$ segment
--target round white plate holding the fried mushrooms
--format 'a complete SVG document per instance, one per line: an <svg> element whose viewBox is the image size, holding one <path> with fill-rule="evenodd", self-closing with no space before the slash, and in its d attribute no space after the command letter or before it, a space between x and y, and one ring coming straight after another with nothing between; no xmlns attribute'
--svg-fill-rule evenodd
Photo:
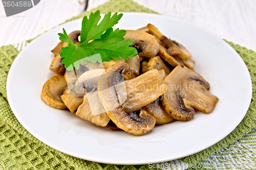
<svg viewBox="0 0 256 170"><path fill-rule="evenodd" d="M77 19L56 27L33 40L13 62L7 80L11 109L19 122L50 147L86 160L113 164L146 164L173 160L202 151L238 126L252 94L251 79L241 57L221 38L190 23L147 13L124 13L115 28L138 29L153 23L183 44L193 55L195 70L207 80L210 92L219 98L210 114L197 112L189 122L155 127L144 136L109 131L69 111L51 108L41 98L57 33L80 30ZM26 34L26 33L25 33Z"/></svg>

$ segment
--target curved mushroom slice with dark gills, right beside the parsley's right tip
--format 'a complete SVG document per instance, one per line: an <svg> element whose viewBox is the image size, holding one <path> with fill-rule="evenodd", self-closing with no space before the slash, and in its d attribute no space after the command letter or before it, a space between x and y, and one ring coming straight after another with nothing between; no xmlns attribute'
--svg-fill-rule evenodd
<svg viewBox="0 0 256 170"><path fill-rule="evenodd" d="M123 37L125 40L134 40L131 46L142 50L142 52L139 53L140 57L152 58L155 57L159 51L159 43L156 38L146 32L126 30L126 34Z"/></svg>

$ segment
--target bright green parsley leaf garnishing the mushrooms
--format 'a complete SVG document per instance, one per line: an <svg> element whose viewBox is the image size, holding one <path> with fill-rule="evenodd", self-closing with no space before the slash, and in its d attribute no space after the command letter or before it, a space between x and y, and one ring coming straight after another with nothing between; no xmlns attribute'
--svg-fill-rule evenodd
<svg viewBox="0 0 256 170"><path fill-rule="evenodd" d="M123 40L125 30L113 30L113 26L118 23L122 14L115 13L111 17L111 12L104 15L100 20L100 12L91 13L89 18L83 17L80 42L74 44L63 29L63 34L59 33L59 39L62 42L67 42L68 46L61 48L60 56L64 59L62 63L68 70L73 70L73 67L79 69L79 62L86 63L87 61L102 62L110 61L111 58L119 60L119 57L127 59L137 55L137 50L130 47L133 40ZM92 42L88 43L90 40Z"/></svg>

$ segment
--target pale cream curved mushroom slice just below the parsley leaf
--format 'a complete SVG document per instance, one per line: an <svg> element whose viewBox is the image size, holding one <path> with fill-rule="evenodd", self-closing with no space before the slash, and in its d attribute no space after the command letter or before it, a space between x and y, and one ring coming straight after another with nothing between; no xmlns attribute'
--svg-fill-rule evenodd
<svg viewBox="0 0 256 170"><path fill-rule="evenodd" d="M77 96L83 96L86 89L96 89L100 76L105 72L105 69L98 68L84 72L76 81L75 92Z"/></svg>

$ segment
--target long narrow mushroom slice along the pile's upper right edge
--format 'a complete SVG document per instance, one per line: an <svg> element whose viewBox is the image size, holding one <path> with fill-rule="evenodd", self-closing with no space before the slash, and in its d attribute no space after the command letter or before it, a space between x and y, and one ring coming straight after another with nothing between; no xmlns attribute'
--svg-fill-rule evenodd
<svg viewBox="0 0 256 170"><path fill-rule="evenodd" d="M164 36L154 25L148 23L147 28L157 37L159 40L168 48L167 53L170 56L177 56L181 60L189 60L192 56L186 50L186 48L181 45L175 44L172 40ZM184 52L184 53L183 53Z"/></svg>

